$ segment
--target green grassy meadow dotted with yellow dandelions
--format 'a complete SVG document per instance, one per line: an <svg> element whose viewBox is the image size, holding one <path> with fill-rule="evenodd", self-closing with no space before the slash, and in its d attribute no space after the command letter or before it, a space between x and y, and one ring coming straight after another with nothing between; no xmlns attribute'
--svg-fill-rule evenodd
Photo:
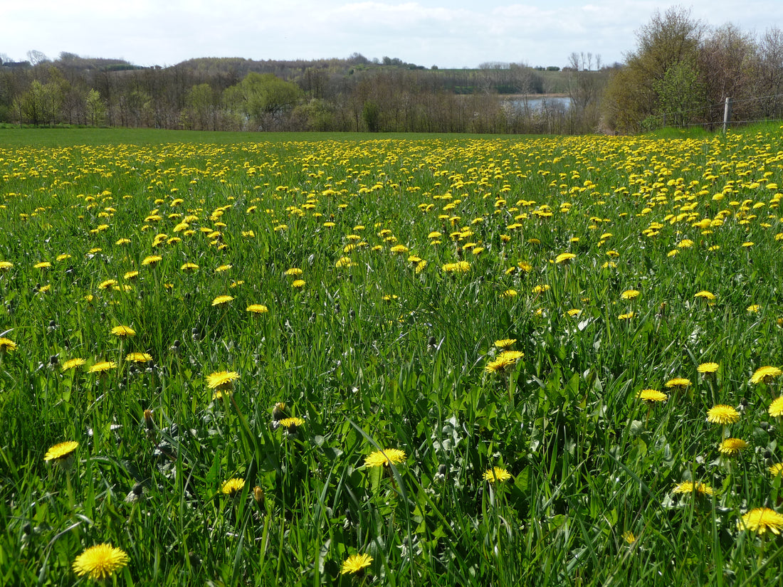
<svg viewBox="0 0 783 587"><path fill-rule="evenodd" d="M0 584L781 582L781 128L307 136L0 131Z"/></svg>

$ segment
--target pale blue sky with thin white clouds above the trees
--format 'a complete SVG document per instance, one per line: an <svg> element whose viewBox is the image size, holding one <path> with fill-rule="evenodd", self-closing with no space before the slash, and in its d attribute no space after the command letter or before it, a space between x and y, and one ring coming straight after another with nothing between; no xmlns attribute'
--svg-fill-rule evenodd
<svg viewBox="0 0 783 587"><path fill-rule="evenodd" d="M655 0L35 0L3 2L0 53L31 49L174 65L193 57L398 57L425 67L564 66L572 52L622 61ZM714 27L783 27L781 0L679 2Z"/></svg>

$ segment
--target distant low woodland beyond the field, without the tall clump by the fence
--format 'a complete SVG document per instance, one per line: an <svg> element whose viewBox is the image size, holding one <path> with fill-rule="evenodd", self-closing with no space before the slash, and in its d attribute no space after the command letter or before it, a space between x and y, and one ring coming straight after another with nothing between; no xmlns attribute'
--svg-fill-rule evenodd
<svg viewBox="0 0 783 587"><path fill-rule="evenodd" d="M531 108L525 99L568 92L572 73L559 67L425 69L358 53L348 59L202 58L135 67L119 59L61 53L51 60L31 53L32 59L18 63L0 55L0 122L216 131L581 130L575 111L561 103Z"/></svg>

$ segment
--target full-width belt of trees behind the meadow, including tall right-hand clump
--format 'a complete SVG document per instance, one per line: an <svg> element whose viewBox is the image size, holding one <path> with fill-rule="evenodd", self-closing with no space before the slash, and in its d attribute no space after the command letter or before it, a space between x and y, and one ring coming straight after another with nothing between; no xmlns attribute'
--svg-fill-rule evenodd
<svg viewBox="0 0 783 587"><path fill-rule="evenodd" d="M565 99L532 101L557 93ZM590 52L568 67L482 63L424 68L401 59L121 59L0 54L0 123L213 131L633 133L666 125L783 118L783 32L709 27L680 6L637 31L625 63Z"/></svg>

